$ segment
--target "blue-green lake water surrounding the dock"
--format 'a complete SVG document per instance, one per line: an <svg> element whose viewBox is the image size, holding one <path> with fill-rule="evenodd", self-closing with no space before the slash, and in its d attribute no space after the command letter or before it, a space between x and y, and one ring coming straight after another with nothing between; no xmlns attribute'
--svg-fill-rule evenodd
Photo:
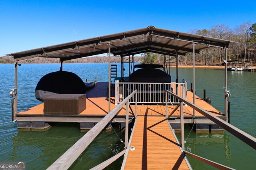
<svg viewBox="0 0 256 170"><path fill-rule="evenodd" d="M34 89L42 76L57 71L60 64L22 64L18 67L18 111L22 111L40 102L34 97ZM128 63L125 63L128 74ZM120 70L120 64L118 64ZM63 64L63 70L76 73L84 81L108 81L108 63ZM176 69L171 68L172 81L175 81ZM120 74L119 74L120 76ZM178 69L179 82L182 79L192 82L192 68ZM228 90L231 92L231 124L256 134L256 73L228 72ZM0 123L11 121L10 89L14 88L14 66L0 64ZM212 100L212 106L224 111L224 70L196 68L197 95ZM90 169L123 150L119 138L124 133L113 124L114 131L102 132L86 149L72 169ZM256 150L244 144L230 133L198 134L185 127L185 149L204 158L236 169L255 169ZM80 132L78 123L57 123L47 131L18 131L16 123L0 125L0 161L24 161L27 169L46 169L85 132ZM180 138L180 134L176 134ZM214 169L188 156L194 169ZM120 169L122 159L118 159L106 169Z"/></svg>

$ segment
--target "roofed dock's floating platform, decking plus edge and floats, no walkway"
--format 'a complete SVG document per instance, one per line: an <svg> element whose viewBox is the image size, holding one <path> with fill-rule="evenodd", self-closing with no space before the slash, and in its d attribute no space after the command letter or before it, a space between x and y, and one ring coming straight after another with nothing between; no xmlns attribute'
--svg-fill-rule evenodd
<svg viewBox="0 0 256 170"><path fill-rule="evenodd" d="M46 129L50 127L51 122L79 122L80 129L91 129L98 123L104 116L108 114L108 98L106 97L106 89L108 82L98 82L95 87L86 92L86 109L78 115L45 115L44 103L34 107L30 107L24 111L16 114L18 119L19 129ZM174 89L175 91L175 89ZM181 93L180 96L183 94ZM192 92L187 90L188 101L192 102ZM209 111L213 115L218 116L221 119L225 119L225 116L198 96L195 97L195 103L197 106ZM115 98L111 97L111 110L116 107ZM130 105L132 109L135 109L135 105ZM176 108L176 105L168 105L168 115ZM126 108L125 106L116 115L116 121L124 121ZM130 112L132 115L132 112ZM166 116L166 106L163 104L140 104L137 105L138 116ZM172 128L180 130L180 109L178 108L168 119ZM190 106L184 106L184 123L196 123L195 127L198 131L223 131L218 125L210 121L198 111L195 111L193 117L193 109ZM123 128L123 124L120 123L120 128ZM106 129L110 128L110 125Z"/></svg>

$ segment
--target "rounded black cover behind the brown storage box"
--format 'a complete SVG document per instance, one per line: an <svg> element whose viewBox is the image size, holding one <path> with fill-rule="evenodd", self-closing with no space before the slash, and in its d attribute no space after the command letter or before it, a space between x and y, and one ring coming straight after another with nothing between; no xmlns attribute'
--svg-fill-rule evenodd
<svg viewBox="0 0 256 170"><path fill-rule="evenodd" d="M86 86L76 74L67 71L51 72L43 76L36 85L35 96L44 102L53 94L85 94Z"/></svg>

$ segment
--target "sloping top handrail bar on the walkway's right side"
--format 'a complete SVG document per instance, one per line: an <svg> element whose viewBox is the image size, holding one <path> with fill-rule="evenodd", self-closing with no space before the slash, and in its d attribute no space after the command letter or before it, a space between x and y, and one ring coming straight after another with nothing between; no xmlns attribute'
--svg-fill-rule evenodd
<svg viewBox="0 0 256 170"><path fill-rule="evenodd" d="M219 117L212 115L208 111L196 106L195 104L192 104L188 100L185 100L185 99L181 98L180 96L178 96L168 90L166 90L166 93L169 93L172 96L178 98L178 100L180 100L181 102L184 102L188 106L192 107L193 109L195 109L196 111L198 111L199 113L201 113L202 115L204 115L205 117L207 117L208 119L210 119L211 121L216 123L217 125L221 126L223 129L225 129L226 131L228 131L229 133L231 133L232 135L234 135L235 137L237 137L238 139L240 139L241 141L243 141L244 143L246 143L253 149L256 149L256 138L254 138L251 135L245 133L244 131L238 129L237 127L231 125L230 123L223 121Z"/></svg>

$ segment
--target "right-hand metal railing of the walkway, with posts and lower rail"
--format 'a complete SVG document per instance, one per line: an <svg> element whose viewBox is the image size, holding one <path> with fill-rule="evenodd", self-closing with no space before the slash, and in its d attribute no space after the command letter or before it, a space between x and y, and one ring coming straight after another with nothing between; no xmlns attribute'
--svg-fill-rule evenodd
<svg viewBox="0 0 256 170"><path fill-rule="evenodd" d="M217 162L208 160L206 158L202 158L196 154L192 154L190 152L185 151L185 147L184 147L184 115L183 115L183 104L186 104L187 106L192 107L193 109L195 109L196 111L198 111L199 113L201 113L202 115L204 115L205 117L207 117L208 119L210 119L211 121L213 121L214 123L216 123L217 125L219 125L220 127L222 127L223 129L225 129L226 131L228 131L229 133L231 133L232 135L234 135L235 137L237 137L238 139L240 139L241 141L243 141L244 143L246 143L247 145L249 145L250 147L252 147L253 149L256 149L256 138L252 137L251 135L245 133L244 131L238 129L237 127L231 125L230 123L227 123L226 121L220 119L219 117L212 115L211 113L209 113L208 111L196 106L195 104L189 102L188 100L181 98L180 96L166 90L166 96L167 94L170 94L172 96L174 96L175 98L177 98L178 100L180 100L180 103L174 108L174 110L172 110L172 112L170 113L170 115L168 115L168 105L166 103L166 118L169 119L170 116L178 109L178 107L180 107L180 142L181 142L181 147L182 150L184 152L184 154L187 154L189 156L192 156L193 158L196 158L206 164L209 164L211 166L214 166L215 168L219 168L219 169L232 169L228 166L224 166L222 164L218 164Z"/></svg>

